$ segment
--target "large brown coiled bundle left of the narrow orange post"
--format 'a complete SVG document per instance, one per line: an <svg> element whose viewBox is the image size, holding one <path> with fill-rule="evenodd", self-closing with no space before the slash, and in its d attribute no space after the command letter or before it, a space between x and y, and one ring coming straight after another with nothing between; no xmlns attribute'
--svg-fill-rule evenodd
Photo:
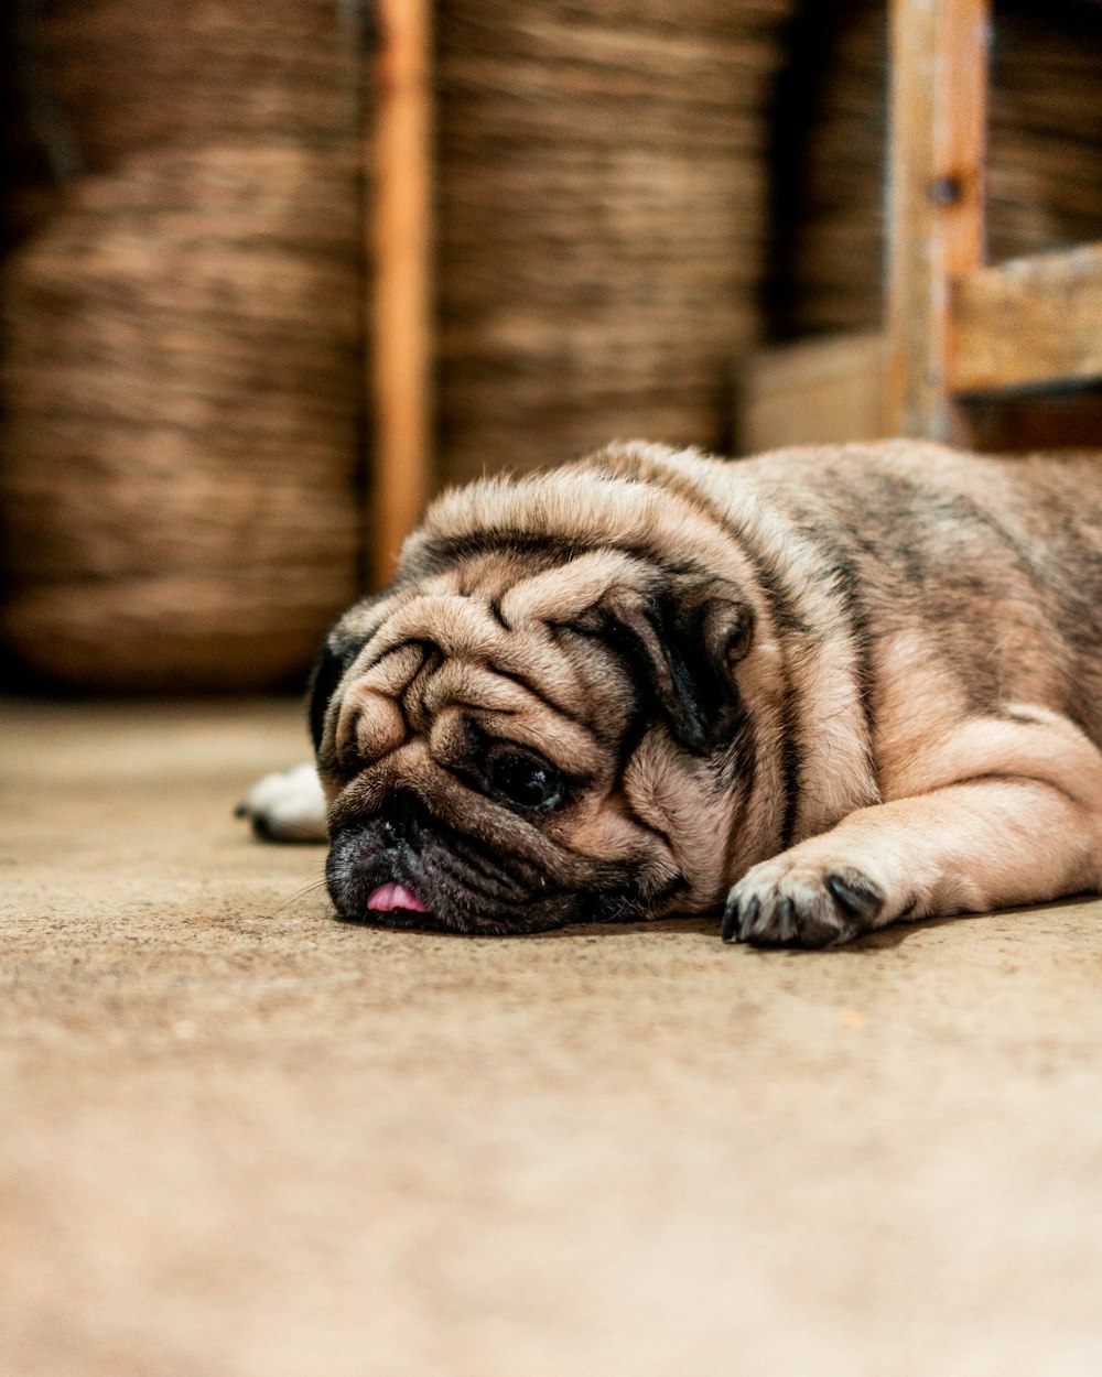
<svg viewBox="0 0 1102 1377"><path fill-rule="evenodd" d="M85 688L263 688L355 584L358 50L320 0L136 10L39 34L77 165L4 270L3 633Z"/></svg>

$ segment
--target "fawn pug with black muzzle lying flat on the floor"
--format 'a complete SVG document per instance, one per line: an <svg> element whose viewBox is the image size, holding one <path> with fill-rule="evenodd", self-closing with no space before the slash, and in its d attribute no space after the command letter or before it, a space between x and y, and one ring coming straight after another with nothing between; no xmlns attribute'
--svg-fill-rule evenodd
<svg viewBox="0 0 1102 1377"><path fill-rule="evenodd" d="M333 627L309 716L317 774L245 811L328 830L346 918L826 947L1098 890L1102 468L623 443L489 478Z"/></svg>

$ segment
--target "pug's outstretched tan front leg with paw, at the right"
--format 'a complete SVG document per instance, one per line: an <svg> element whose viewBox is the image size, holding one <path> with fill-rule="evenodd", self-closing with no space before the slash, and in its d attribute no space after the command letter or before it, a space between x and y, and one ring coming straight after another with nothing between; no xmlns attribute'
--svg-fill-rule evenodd
<svg viewBox="0 0 1102 1377"><path fill-rule="evenodd" d="M895 918L1098 888L1102 755L1054 713L1025 712L967 723L901 771L890 801L749 869L725 940L832 946ZM906 775L917 788L898 797Z"/></svg>

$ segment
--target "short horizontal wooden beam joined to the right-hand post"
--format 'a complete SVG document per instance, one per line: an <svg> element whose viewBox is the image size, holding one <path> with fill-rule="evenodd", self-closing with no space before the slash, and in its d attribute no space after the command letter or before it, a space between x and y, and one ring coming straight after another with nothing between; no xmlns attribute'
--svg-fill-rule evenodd
<svg viewBox="0 0 1102 1377"><path fill-rule="evenodd" d="M1102 379L1102 244L952 284L950 384L964 394Z"/></svg>

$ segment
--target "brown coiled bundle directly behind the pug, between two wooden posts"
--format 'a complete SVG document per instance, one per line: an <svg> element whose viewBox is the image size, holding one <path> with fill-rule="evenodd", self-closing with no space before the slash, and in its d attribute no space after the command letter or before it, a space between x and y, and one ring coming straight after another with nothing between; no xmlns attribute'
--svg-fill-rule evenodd
<svg viewBox="0 0 1102 1377"><path fill-rule="evenodd" d="M613 437L722 445L759 336L791 0L438 14L445 481Z"/></svg>

